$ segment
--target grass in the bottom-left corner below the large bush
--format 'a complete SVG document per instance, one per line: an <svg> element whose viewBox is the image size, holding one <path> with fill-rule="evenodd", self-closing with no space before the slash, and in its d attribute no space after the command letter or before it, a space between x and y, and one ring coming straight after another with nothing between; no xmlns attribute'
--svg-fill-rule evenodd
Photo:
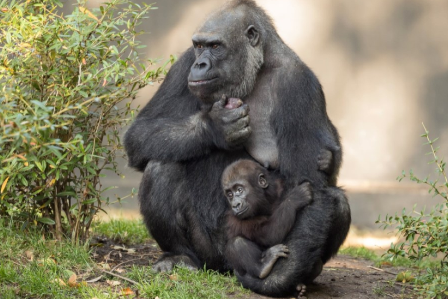
<svg viewBox="0 0 448 299"><path fill-rule="evenodd" d="M88 247L56 242L38 230L20 232L8 222L0 218L2 298L89 298L82 289L62 283L67 271L80 276L96 268Z"/></svg>

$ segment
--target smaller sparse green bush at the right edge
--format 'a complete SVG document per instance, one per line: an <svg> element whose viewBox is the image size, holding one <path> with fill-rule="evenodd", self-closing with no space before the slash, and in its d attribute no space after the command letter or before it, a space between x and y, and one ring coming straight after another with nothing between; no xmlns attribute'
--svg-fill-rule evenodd
<svg viewBox="0 0 448 299"><path fill-rule="evenodd" d="M388 250L387 257L394 260L403 256L413 261L415 265L420 264L422 260L428 258L438 258L439 263L434 267L427 268L418 273L415 278L415 289L423 298L447 298L448 296L448 178L446 173L446 162L437 156L439 147L434 147L437 139L431 140L429 132L426 130L423 138L425 143L431 147L428 155L433 156L430 164L436 165L437 179L431 181L429 176L425 179L417 178L413 171L409 171L409 176L403 171L397 179L409 177L413 182L426 184L429 187L429 193L439 197L442 200L426 213L424 211L406 213L405 209L401 215L395 214L394 217L386 216L385 221L378 220L384 228L396 225L399 235L405 239L399 244L392 244Z"/></svg>

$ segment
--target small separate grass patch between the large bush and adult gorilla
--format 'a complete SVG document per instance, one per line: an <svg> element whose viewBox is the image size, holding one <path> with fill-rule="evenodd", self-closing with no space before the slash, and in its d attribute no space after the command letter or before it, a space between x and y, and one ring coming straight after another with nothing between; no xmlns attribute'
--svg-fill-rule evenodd
<svg viewBox="0 0 448 299"><path fill-rule="evenodd" d="M151 238L142 220L112 218L109 221L95 221L92 232L125 244L141 244Z"/></svg>

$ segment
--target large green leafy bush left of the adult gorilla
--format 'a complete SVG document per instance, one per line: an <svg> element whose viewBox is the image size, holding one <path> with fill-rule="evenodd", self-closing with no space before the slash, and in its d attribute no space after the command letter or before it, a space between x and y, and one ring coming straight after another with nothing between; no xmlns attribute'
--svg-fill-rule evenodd
<svg viewBox="0 0 448 299"><path fill-rule="evenodd" d="M136 26L151 5L60 7L0 0L0 216L77 242L109 203L102 172L120 174L131 100L164 68L151 70L138 53Z"/></svg>

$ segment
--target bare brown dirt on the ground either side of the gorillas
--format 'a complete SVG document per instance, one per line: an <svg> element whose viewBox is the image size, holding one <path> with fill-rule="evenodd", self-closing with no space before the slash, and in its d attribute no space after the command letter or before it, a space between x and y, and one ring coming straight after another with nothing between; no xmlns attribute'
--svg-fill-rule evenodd
<svg viewBox="0 0 448 299"><path fill-rule="evenodd" d="M132 247L131 252L121 249L110 240L102 240L103 246L97 247L94 257L99 263L108 263L126 268L132 264L149 266L161 254L155 243L146 243ZM339 255L325 264L323 271L313 284L307 286L308 299L372 299L372 298L411 298L411 288L395 280L399 269L383 267L374 269L371 261ZM388 273L390 272L390 273ZM125 275L125 274L124 274ZM237 298L268 299L257 294L237 295ZM233 296L232 296L233 297ZM291 297L288 297L288 299ZM304 298L304 297L301 297Z"/></svg>

